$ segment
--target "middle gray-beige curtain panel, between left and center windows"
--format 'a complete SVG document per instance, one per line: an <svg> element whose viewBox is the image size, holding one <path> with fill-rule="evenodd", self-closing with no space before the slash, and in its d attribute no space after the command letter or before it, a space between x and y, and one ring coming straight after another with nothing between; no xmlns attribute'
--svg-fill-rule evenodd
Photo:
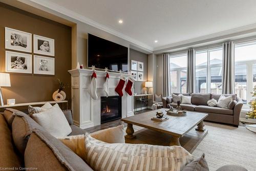
<svg viewBox="0 0 256 171"><path fill-rule="evenodd" d="M195 50L187 50L187 93L195 92Z"/></svg>

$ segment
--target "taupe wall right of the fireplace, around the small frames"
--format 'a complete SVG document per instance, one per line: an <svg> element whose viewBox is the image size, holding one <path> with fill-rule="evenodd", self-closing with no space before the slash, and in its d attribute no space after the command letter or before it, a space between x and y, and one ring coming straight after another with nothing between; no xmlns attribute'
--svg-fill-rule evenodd
<svg viewBox="0 0 256 171"><path fill-rule="evenodd" d="M144 94L146 90L145 81L147 81L147 54L130 49L130 63L131 60L143 62L144 81L134 82L134 92L137 94Z"/></svg>

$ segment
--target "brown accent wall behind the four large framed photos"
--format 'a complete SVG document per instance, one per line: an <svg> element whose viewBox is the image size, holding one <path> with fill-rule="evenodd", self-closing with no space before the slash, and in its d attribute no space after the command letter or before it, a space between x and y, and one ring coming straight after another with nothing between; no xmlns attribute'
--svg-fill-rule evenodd
<svg viewBox="0 0 256 171"><path fill-rule="evenodd" d="M10 98L15 98L16 103L53 100L52 94L58 86L57 78L65 82L66 99L70 101L71 76L68 70L71 70L71 27L2 3L0 16L0 72L5 72L5 27L55 40L55 75L10 73L11 87L2 88L4 103Z"/></svg>

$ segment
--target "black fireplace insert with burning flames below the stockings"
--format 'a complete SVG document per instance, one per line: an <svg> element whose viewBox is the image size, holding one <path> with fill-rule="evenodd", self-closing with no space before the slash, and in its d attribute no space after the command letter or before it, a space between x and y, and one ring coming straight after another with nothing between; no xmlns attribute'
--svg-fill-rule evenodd
<svg viewBox="0 0 256 171"><path fill-rule="evenodd" d="M100 97L100 123L122 118L122 98L120 96Z"/></svg>

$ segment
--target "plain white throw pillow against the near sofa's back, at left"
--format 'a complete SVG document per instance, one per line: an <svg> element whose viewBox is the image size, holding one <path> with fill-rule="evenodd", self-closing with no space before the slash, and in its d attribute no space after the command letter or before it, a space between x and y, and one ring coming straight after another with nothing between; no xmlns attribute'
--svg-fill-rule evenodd
<svg viewBox="0 0 256 171"><path fill-rule="evenodd" d="M54 137L67 136L72 132L57 103L48 110L33 114L33 119Z"/></svg>

